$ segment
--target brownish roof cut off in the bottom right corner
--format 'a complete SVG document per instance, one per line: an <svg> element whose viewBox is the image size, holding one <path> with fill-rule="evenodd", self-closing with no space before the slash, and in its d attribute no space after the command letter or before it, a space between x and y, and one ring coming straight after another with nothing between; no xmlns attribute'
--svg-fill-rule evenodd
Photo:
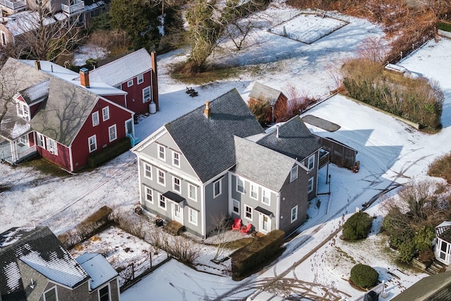
<svg viewBox="0 0 451 301"><path fill-rule="evenodd" d="M439 300L432 299L439 290L451 289L451 271L427 276L404 290L400 295L395 296L392 301L421 301L421 300Z"/></svg>

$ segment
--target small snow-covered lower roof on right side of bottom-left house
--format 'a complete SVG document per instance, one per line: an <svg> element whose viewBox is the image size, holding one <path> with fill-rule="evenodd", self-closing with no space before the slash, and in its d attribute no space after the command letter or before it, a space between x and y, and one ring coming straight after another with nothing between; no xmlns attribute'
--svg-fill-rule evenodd
<svg viewBox="0 0 451 301"><path fill-rule="evenodd" d="M77 257L77 262L91 277L91 290L111 281L118 276L118 272L113 266L99 253L85 253Z"/></svg>

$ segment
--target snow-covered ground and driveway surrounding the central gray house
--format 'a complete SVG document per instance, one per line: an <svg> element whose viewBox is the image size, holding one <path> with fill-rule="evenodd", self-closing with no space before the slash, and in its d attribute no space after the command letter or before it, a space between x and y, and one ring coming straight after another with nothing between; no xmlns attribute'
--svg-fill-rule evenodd
<svg viewBox="0 0 451 301"><path fill-rule="evenodd" d="M271 6L266 13L284 16L292 14L293 10L278 4ZM264 21L261 19L261 22ZM334 75L340 61L355 56L357 46L366 37L383 35L378 26L350 18L348 25L307 45L268 33L266 26L270 25L265 23L261 28L256 27L252 33L254 42L245 49L236 51L233 47L226 47L228 42L224 41L221 49L209 59L230 66L252 65L257 71L245 68L238 78L195 87L199 91L198 97L187 96L186 85L168 75L168 66L185 59L187 54L175 51L159 56L160 111L140 119L140 123L135 125L138 137L147 137L163 123L234 87L243 99L247 99L254 81L281 91L290 83L311 96L324 98L335 89ZM369 239L357 244L342 242L335 231L343 218L349 217L356 207L362 208L364 202L393 183L425 178L428 164L435 157L450 152L451 60L446 57L450 49L451 41L448 39L440 39L437 43L430 41L400 62L409 70L440 82L445 94L444 128L436 135L419 133L394 118L342 96L330 98L307 112L340 125L340 130L334 133L325 133L313 125L308 127L317 135L333 137L357 149L361 170L351 173L330 165L331 194L321 195L319 208L311 205L308 211L311 219L287 244L287 250L276 263L243 281L234 282L230 277L200 273L172 260L126 290L121 294L121 300L148 300L149 291L152 291L152 299L156 300L237 300L255 288L265 288L282 296L309 293L325 298L323 300L333 300L333 296L354 300L362 292L352 288L346 279L355 262L371 264L379 271L379 280L387 283L389 293L384 300L389 300L426 276L412 271L395 271L393 254L383 252L385 242L381 235L377 235L377 226L383 216L381 199L367 210L377 217ZM325 173L323 168L319 192L329 189ZM136 160L130 152L93 171L61 178L23 166L0 165L0 183L9 188L0 192L1 232L13 226L35 224L49 226L59 234L103 205L131 213L139 202ZM316 252L308 254L311 250ZM204 256L196 263L210 266L212 250L205 248L202 252ZM227 270L230 260L223 265L221 269ZM393 274L400 279L394 278Z"/></svg>

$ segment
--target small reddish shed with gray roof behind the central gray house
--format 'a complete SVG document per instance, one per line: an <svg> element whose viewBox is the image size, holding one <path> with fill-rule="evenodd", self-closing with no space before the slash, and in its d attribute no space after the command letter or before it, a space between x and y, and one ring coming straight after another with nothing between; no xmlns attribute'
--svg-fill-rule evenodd
<svg viewBox="0 0 451 301"><path fill-rule="evenodd" d="M252 102L268 102L271 109L268 110L269 123L285 121L287 117L287 101L288 98L279 90L273 89L259 82L254 83L249 93L249 104Z"/></svg>

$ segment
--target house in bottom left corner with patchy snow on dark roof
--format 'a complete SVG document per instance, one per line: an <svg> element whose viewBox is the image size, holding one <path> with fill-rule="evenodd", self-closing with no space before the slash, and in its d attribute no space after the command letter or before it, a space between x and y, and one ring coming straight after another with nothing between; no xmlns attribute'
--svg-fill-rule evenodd
<svg viewBox="0 0 451 301"><path fill-rule="evenodd" d="M74 259L47 227L0 234L0 300L120 300L118 273L97 253Z"/></svg>

